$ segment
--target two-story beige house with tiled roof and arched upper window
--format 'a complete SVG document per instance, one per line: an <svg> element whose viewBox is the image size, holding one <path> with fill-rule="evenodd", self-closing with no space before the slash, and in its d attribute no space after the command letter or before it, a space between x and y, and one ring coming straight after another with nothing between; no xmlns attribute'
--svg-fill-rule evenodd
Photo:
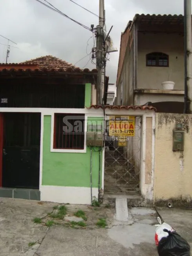
<svg viewBox="0 0 192 256"><path fill-rule="evenodd" d="M138 15L121 33L117 105L150 104L183 113L183 15ZM174 89L162 83L174 82ZM173 84L173 83L172 83Z"/></svg>

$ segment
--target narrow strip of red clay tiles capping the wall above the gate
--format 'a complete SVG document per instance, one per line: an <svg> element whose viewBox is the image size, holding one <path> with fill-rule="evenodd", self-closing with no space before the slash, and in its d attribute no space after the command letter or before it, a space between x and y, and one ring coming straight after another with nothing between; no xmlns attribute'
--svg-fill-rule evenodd
<svg viewBox="0 0 192 256"><path fill-rule="evenodd" d="M120 106L120 105L91 105L87 107L88 109L127 109L127 110L153 110L157 111L155 107L152 106Z"/></svg>

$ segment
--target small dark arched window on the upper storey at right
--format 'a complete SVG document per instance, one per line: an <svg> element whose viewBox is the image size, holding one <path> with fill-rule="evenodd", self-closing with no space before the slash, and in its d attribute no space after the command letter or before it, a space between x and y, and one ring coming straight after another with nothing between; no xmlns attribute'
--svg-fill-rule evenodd
<svg viewBox="0 0 192 256"><path fill-rule="evenodd" d="M168 55L165 53L148 53L146 55L146 66L168 67Z"/></svg>

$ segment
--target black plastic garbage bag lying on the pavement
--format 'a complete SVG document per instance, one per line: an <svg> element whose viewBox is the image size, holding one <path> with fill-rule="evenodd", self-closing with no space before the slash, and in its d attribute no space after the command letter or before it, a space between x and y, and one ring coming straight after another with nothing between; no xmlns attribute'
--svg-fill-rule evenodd
<svg viewBox="0 0 192 256"><path fill-rule="evenodd" d="M190 245L187 241L179 236L177 232L171 232L167 229L163 231L168 233L158 244L159 256L190 256Z"/></svg>

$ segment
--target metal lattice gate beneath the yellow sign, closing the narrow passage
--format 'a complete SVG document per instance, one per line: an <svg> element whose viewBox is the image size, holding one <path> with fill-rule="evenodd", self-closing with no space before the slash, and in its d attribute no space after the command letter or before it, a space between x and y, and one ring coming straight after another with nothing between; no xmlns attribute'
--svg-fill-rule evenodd
<svg viewBox="0 0 192 256"><path fill-rule="evenodd" d="M105 136L106 194L139 193L141 158L141 117L135 118L135 136L129 136L127 145L118 146L115 138Z"/></svg>

